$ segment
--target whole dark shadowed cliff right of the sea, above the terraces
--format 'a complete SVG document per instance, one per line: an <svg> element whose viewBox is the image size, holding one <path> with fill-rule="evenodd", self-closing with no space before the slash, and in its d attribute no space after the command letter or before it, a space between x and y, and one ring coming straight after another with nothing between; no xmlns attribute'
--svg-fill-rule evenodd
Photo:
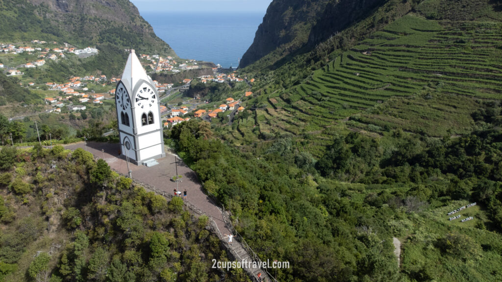
<svg viewBox="0 0 502 282"><path fill-rule="evenodd" d="M387 1L274 0L239 67L264 57L263 65L268 66L301 48L308 52L315 44L367 17Z"/></svg>

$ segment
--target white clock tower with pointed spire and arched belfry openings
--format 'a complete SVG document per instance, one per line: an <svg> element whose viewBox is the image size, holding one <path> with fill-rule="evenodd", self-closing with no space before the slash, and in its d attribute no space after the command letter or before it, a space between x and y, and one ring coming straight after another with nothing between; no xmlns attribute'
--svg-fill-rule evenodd
<svg viewBox="0 0 502 282"><path fill-rule="evenodd" d="M115 88L115 104L121 155L137 165L164 157L159 94L134 50Z"/></svg>

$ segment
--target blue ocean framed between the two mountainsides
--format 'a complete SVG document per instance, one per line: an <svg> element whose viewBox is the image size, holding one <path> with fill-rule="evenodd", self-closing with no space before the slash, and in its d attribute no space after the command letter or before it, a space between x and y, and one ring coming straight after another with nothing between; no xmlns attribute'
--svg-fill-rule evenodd
<svg viewBox="0 0 502 282"><path fill-rule="evenodd" d="M264 14L148 12L142 16L181 58L236 68Z"/></svg>

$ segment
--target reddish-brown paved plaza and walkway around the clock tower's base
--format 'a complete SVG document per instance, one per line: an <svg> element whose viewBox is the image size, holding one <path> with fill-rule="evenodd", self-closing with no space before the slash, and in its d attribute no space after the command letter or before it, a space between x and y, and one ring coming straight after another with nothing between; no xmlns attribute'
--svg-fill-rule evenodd
<svg viewBox="0 0 502 282"><path fill-rule="evenodd" d="M75 150L77 148L85 149L94 156L104 159L112 169L127 175L128 169L126 161L118 158L119 147L119 144L97 142L88 142L87 145L79 143L65 146L65 148L70 150ZM101 150L104 150L104 153ZM157 160L157 162L159 162L158 165L151 168L130 164L133 178L148 183L167 194L173 194L177 186L176 183L171 181L171 177L176 175L176 167L174 164L175 155L168 153L167 148L166 155L165 158ZM221 211L214 201L203 192L197 175L190 170L188 166L179 161L179 159L178 174L183 176L183 182L178 183L178 189L187 190L188 201L201 209L208 216L211 216L222 234L229 234L230 230L223 222Z"/></svg>

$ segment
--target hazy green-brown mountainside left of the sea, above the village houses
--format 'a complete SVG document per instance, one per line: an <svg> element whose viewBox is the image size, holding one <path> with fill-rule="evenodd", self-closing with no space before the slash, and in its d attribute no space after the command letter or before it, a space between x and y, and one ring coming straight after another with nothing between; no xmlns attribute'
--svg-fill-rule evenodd
<svg viewBox="0 0 502 282"><path fill-rule="evenodd" d="M176 55L128 0L5 0L0 2L0 39L111 44Z"/></svg>

